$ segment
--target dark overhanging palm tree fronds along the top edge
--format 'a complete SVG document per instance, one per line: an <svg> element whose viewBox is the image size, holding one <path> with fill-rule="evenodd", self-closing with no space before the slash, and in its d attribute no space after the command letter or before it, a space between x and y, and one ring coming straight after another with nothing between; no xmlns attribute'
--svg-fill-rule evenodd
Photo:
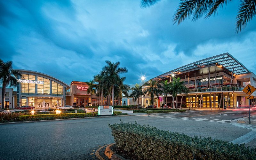
<svg viewBox="0 0 256 160"><path fill-rule="evenodd" d="M160 0L141 0L140 7L146 8ZM228 0L228 3L232 0ZM256 0L240 0L241 4L236 16L236 33L241 32L256 14ZM196 21L205 15L205 19L217 15L218 10L227 5L227 0L181 0L174 13L173 22L178 25L185 19L192 17Z"/></svg>

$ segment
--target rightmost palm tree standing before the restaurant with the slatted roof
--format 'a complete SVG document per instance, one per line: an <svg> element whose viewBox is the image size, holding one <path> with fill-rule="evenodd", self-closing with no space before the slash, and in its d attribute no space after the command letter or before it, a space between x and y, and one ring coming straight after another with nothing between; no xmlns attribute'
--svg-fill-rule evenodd
<svg viewBox="0 0 256 160"><path fill-rule="evenodd" d="M172 108L174 108L174 98L178 93L188 94L188 88L184 85L184 81L180 81L180 77L173 77L173 81L170 83L170 92L172 93ZM176 101L176 109L178 109L178 103Z"/></svg>

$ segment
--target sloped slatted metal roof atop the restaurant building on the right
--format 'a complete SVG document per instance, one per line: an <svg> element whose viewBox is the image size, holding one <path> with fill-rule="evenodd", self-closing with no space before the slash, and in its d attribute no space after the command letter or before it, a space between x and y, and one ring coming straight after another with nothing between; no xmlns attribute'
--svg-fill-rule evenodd
<svg viewBox="0 0 256 160"><path fill-rule="evenodd" d="M199 60L193 63L190 63L188 65L182 66L180 68L173 69L169 72L166 72L160 76L156 76L155 80L161 79L167 76L171 76L172 74L178 74L182 72L186 72L191 69L200 69L204 68L208 65L216 64L216 66L223 68L225 70L228 70L230 73L232 73L234 68L234 73L236 75L243 75L247 73L251 73L249 69L247 69L243 64L241 64L238 60L236 60L231 54L229 53L223 53L220 55L216 55L213 57L209 57L203 60Z"/></svg>

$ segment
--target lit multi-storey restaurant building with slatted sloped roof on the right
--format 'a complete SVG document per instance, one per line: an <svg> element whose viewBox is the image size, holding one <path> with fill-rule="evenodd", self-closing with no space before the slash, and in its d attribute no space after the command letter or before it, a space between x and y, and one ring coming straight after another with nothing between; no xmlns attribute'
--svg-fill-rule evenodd
<svg viewBox="0 0 256 160"><path fill-rule="evenodd" d="M187 86L189 93L178 94L174 102L178 107L218 109L223 106L240 108L248 106L246 94L242 91L248 84L256 87L256 76L229 53L220 54L199 60L173 69L153 78L156 81L172 81L180 78ZM256 92L252 95L255 96ZM167 104L172 106L172 95L167 94ZM145 102L144 102L145 104ZM155 97L154 104L161 107L165 104L165 95ZM255 104L255 99L252 100Z"/></svg>

